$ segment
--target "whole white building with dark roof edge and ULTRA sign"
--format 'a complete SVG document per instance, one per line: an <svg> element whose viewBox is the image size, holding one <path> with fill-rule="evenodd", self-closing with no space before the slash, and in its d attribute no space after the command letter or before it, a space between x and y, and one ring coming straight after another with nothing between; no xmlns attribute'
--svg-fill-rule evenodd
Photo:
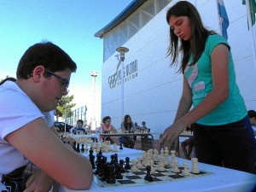
<svg viewBox="0 0 256 192"><path fill-rule="evenodd" d="M130 114L138 125L146 121L154 133L161 133L172 124L182 94L183 76L177 73L178 68L169 67L171 58L166 56L169 44L166 10L176 2L133 1L96 33L96 37L103 38L104 44L102 117L109 115L116 128L123 114ZM216 0L189 2L199 10L207 28L221 32ZM252 17L248 12L249 3L224 0L230 21L227 32L235 61L236 82L247 109L256 109L256 27L255 20L253 23L252 19L247 19ZM115 51L118 47L129 49L125 53L124 70L118 67L119 53Z"/></svg>

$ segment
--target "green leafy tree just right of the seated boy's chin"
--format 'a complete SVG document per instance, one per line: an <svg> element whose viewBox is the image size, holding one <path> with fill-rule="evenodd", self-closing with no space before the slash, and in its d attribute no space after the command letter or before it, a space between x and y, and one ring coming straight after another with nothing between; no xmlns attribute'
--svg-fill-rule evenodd
<svg viewBox="0 0 256 192"><path fill-rule="evenodd" d="M60 117L65 117L66 108L67 108L67 118L71 117L71 115L72 115L71 108L76 106L76 104L72 103L72 101L73 101L73 95L72 96L62 96L61 102L59 102L57 105L57 109L60 112Z"/></svg>

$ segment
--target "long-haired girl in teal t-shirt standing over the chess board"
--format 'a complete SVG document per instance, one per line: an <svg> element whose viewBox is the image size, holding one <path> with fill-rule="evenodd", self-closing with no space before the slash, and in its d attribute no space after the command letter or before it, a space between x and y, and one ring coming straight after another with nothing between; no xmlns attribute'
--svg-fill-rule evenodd
<svg viewBox="0 0 256 192"><path fill-rule="evenodd" d="M200 162L254 172L255 138L236 84L230 45L202 25L197 9L187 1L174 4L166 21L171 66L182 55L183 94L174 122L160 142L170 145L194 124L195 154Z"/></svg>

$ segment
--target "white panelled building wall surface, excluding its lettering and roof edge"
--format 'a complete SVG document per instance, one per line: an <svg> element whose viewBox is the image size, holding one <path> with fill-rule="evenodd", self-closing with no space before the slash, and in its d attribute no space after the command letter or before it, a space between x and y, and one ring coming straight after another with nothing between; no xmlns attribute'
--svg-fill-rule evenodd
<svg viewBox="0 0 256 192"><path fill-rule="evenodd" d="M123 46L130 49L125 54L124 66L137 60L137 77L124 84L124 114L131 115L133 122L141 125L146 121L151 132L160 133L172 124L177 104L182 94L182 75L177 68L170 68L170 57L166 57L169 44L169 27L166 10L177 1L172 1L154 19L150 20ZM219 32L216 0L190 1L195 3L205 26ZM241 88L247 108L256 108L255 65L253 64L252 39L247 30L246 7L241 1L225 0L230 18L228 29L231 51L234 56L237 83ZM119 128L121 112L121 85L109 88L108 78L115 73L117 53L102 64L102 117L109 115Z"/></svg>

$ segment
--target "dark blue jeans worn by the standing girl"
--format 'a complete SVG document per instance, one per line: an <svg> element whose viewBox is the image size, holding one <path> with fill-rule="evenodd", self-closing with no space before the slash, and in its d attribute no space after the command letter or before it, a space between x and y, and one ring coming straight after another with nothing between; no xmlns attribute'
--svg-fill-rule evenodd
<svg viewBox="0 0 256 192"><path fill-rule="evenodd" d="M248 117L227 125L195 123L194 139L200 162L255 172L255 137Z"/></svg>

